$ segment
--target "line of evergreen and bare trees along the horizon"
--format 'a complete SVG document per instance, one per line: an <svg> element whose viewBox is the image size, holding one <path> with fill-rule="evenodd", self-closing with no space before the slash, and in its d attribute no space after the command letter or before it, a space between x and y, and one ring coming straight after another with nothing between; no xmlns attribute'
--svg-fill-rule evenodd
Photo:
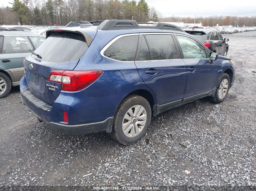
<svg viewBox="0 0 256 191"><path fill-rule="evenodd" d="M194 23L194 17L163 17L161 11L149 7L145 0L13 0L10 6L0 7L0 25L65 26L70 21L99 21L127 19L137 22ZM256 16L196 17L203 26L256 26Z"/></svg>

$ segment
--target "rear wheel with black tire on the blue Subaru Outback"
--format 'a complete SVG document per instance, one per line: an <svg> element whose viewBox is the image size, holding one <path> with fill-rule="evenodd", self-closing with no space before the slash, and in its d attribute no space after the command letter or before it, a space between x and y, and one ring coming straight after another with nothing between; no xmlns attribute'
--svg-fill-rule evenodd
<svg viewBox="0 0 256 191"><path fill-rule="evenodd" d="M111 137L120 144L137 142L147 131L151 121L151 107L141 96L131 95L118 107Z"/></svg>

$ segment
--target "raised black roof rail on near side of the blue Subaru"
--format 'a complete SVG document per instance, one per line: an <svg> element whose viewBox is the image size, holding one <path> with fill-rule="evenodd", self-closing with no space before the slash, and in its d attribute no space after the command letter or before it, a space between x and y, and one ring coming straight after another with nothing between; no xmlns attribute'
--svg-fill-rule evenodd
<svg viewBox="0 0 256 191"><path fill-rule="evenodd" d="M105 20L99 26L98 29L109 30L109 29L138 29L138 28L148 28L148 29L165 29L165 30L178 30L185 32L180 27L174 24L161 23L158 22L155 26L142 26L139 24L156 24L156 23L137 23L134 20Z"/></svg>

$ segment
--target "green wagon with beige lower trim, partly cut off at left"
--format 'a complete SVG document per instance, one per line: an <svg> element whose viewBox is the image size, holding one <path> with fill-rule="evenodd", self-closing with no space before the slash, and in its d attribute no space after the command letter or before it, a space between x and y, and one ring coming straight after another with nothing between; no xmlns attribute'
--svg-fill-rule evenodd
<svg viewBox="0 0 256 191"><path fill-rule="evenodd" d="M18 86L24 75L23 60L45 40L43 35L28 31L0 28L0 98Z"/></svg>

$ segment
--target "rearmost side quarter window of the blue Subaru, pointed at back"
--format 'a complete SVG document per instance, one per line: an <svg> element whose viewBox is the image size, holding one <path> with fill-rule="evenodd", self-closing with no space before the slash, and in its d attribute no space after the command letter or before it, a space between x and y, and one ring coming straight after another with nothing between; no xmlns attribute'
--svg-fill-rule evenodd
<svg viewBox="0 0 256 191"><path fill-rule="evenodd" d="M138 35L121 37L103 53L104 56L118 61L134 61Z"/></svg>

